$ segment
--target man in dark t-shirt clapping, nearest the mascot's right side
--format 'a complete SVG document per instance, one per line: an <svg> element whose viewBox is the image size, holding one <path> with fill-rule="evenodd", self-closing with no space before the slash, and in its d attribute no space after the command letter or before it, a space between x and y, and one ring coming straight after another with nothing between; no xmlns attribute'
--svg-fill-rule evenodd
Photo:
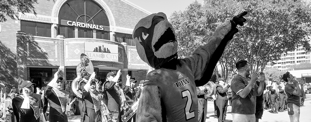
<svg viewBox="0 0 311 122"><path fill-rule="evenodd" d="M254 70L251 77L248 77L250 67L246 60L240 60L235 67L238 69L238 75L231 82L232 122L254 122L256 96L262 94L265 75ZM256 84L257 78L260 81L259 86Z"/></svg>

